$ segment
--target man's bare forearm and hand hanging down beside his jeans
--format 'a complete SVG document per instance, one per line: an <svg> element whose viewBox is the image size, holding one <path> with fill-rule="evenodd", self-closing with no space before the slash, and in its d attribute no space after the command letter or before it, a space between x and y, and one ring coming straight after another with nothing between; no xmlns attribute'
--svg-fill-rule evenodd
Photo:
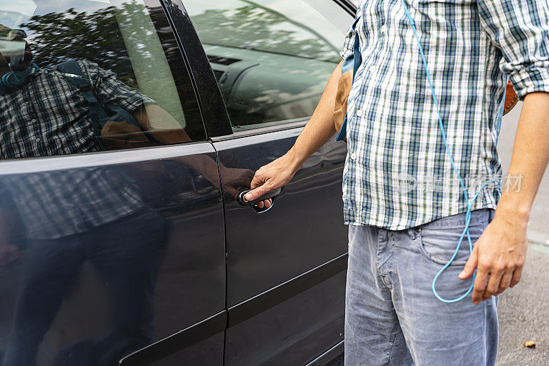
<svg viewBox="0 0 549 366"><path fill-rule="evenodd" d="M473 302L499 295L515 286L522 275L528 239L526 225L537 188L549 161L549 93L530 93L524 98L509 176L521 177L517 190L504 190L492 222L477 240L460 279L477 269ZM522 179L524 177L524 179Z"/></svg>

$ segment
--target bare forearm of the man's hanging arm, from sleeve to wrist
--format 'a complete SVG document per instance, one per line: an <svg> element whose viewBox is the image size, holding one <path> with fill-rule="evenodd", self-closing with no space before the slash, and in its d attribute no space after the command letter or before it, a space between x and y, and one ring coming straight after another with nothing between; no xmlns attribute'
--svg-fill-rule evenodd
<svg viewBox="0 0 549 366"><path fill-rule="evenodd" d="M539 183L549 161L549 93L530 93L524 98L515 137L509 181L495 211L498 216L528 222ZM517 183L519 178L519 185Z"/></svg>

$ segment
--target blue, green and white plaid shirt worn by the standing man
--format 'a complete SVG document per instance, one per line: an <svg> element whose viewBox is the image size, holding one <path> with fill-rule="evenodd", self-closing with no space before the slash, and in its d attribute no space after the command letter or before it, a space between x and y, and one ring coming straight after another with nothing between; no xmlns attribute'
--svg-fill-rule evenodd
<svg viewBox="0 0 549 366"><path fill-rule="evenodd" d="M469 199L500 179L495 124L508 78L519 98L549 92L546 0L405 0ZM400 230L467 210L401 0L361 0L362 65L349 95L344 219ZM351 54L350 28L342 57ZM472 209L493 208L495 185Z"/></svg>

